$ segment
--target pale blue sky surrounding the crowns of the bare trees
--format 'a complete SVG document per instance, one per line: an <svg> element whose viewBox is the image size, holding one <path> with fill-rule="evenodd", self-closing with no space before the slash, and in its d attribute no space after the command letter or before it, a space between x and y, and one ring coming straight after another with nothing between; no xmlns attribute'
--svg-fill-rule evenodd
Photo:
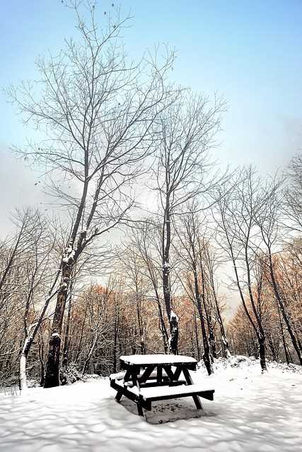
<svg viewBox="0 0 302 452"><path fill-rule="evenodd" d="M113 0L114 1L114 0ZM100 21L112 1L98 1ZM114 1L115 3L115 1ZM283 167L302 148L301 0L122 0L134 16L124 32L127 52L139 55L156 42L178 50L173 76L182 85L228 101L221 146L223 165L255 163L262 172ZM35 78L38 54L54 54L75 34L60 0L1 1L0 87ZM0 189L4 211L20 196L38 201L33 175L8 154L25 129L0 96ZM11 174L13 182L7 182ZM3 211L3 210L2 210Z"/></svg>

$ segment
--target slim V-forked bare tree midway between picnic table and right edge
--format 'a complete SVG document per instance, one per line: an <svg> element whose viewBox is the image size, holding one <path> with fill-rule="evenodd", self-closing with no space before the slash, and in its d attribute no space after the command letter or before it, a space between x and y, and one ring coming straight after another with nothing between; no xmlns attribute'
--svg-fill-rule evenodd
<svg viewBox="0 0 302 452"><path fill-rule="evenodd" d="M222 233L219 242L222 246L223 242L226 242L223 248L231 258L240 300L257 335L260 365L264 371L267 367L265 331L260 312L261 280L257 280L257 266L260 265L257 256L259 251L257 217L267 202L267 193L263 191L261 181L256 177L255 169L252 167L241 169L236 180L228 185L224 193L219 192L219 218L216 217L217 230ZM254 282L257 285L256 292L253 291Z"/></svg>

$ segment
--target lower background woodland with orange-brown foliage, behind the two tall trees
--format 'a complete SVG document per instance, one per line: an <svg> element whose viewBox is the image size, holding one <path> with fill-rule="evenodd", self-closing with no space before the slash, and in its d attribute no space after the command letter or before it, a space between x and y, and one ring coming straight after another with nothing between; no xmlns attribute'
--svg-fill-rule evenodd
<svg viewBox="0 0 302 452"><path fill-rule="evenodd" d="M301 171L300 157L292 167ZM173 221L169 278L178 353L203 359L209 374L213 358L230 353L260 357L262 369L266 357L301 364L302 242L300 216L287 218L292 189L284 179L262 181L242 168L240 177L219 187L214 206L200 211L195 201L187 203ZM43 384L52 286L66 232L37 210L16 214L15 223L15 237L1 242L1 378L25 381L26 367ZM120 355L170 352L160 216L125 232L122 245L88 254L71 275L61 383L85 372L117 371ZM91 275L100 272L107 283L91 285ZM240 303L228 323L226 287Z"/></svg>

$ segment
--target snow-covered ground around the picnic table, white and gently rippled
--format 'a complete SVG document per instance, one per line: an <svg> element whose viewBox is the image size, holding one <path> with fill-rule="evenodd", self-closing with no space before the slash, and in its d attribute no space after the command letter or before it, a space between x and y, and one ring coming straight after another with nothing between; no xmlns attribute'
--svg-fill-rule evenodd
<svg viewBox="0 0 302 452"><path fill-rule="evenodd" d="M233 364L233 367L231 366ZM71 386L32 388L22 396L0 393L0 451L300 452L302 374L296 367L233 357L216 373L192 372L194 382L215 389L204 412L190 399L168 400L137 415L129 400L115 402L109 379ZM295 371L296 369L296 371Z"/></svg>

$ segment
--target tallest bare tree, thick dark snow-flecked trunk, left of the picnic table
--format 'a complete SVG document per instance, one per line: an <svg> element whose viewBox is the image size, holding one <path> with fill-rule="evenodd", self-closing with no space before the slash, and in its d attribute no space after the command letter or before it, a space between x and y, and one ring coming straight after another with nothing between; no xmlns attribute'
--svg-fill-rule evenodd
<svg viewBox="0 0 302 452"><path fill-rule="evenodd" d="M49 189L71 212L69 237L60 263L61 280L52 321L45 388L59 385L64 308L71 272L84 250L122 222L134 201L129 188L141 162L153 151L153 124L173 96L165 76L173 62L148 54L134 64L124 54L122 30L129 18L112 18L99 29L95 7L90 21L71 2L80 40L65 42L57 57L38 59L41 79L11 87L8 95L25 123L44 141L18 150L51 174Z"/></svg>

